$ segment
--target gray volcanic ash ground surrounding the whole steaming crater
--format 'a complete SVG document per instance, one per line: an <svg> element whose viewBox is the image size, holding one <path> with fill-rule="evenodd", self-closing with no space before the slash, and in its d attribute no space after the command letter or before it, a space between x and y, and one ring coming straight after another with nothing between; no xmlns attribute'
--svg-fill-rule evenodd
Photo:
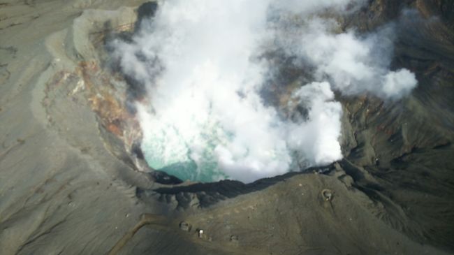
<svg viewBox="0 0 454 255"><path fill-rule="evenodd" d="M126 2L0 3L0 254L453 252L452 1L326 10L337 34L393 27L389 70L418 86L400 100L333 89L344 159L249 184L149 172L136 104L149 99L105 43L131 40L156 5ZM275 108L316 72L287 63L262 91Z"/></svg>

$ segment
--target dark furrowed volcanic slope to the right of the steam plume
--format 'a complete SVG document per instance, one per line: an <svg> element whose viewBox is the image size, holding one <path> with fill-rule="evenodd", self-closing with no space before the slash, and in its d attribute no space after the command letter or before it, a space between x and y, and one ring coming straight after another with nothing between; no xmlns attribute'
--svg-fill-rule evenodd
<svg viewBox="0 0 454 255"><path fill-rule="evenodd" d="M419 83L401 103L381 104L369 99L346 103L355 138L347 159L363 166L378 184L365 184L366 194L398 205L388 205L395 219L386 216L386 221L417 236L420 242L430 240L452 247L453 4L412 4L419 11L407 10L401 17L402 7L407 7L404 3L383 4L381 15L374 13L376 6L372 4L372 19L360 25L367 31L373 22L397 19L393 64L414 71ZM355 24L360 15L349 22Z"/></svg>

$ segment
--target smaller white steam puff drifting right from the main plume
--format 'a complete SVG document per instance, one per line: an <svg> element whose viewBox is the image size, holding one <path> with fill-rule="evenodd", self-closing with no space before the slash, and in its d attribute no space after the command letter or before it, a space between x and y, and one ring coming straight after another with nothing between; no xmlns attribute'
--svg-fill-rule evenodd
<svg viewBox="0 0 454 255"><path fill-rule="evenodd" d="M383 27L374 34L358 37L354 31L333 34L339 29L333 20L313 17L302 27L275 31L277 45L288 56L298 56L295 64L316 67L316 80L328 78L332 88L343 94L369 92L383 99L398 99L416 84L407 69L390 71L395 29Z"/></svg>

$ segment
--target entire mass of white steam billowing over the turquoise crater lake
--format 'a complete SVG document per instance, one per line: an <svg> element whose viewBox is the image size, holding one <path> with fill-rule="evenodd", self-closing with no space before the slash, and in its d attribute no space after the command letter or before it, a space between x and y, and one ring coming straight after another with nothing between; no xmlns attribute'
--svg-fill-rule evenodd
<svg viewBox="0 0 454 255"><path fill-rule="evenodd" d="M150 166L182 179L251 182L328 164L342 159L332 89L398 98L416 85L409 71L388 70L391 27L359 38L332 33L337 25L316 16L352 1L275 2L163 1L132 43L113 42L124 73L147 87L151 105L138 103L138 114ZM302 105L305 118L285 119L258 94L275 68L260 57L268 50L314 66L314 82L286 105Z"/></svg>

